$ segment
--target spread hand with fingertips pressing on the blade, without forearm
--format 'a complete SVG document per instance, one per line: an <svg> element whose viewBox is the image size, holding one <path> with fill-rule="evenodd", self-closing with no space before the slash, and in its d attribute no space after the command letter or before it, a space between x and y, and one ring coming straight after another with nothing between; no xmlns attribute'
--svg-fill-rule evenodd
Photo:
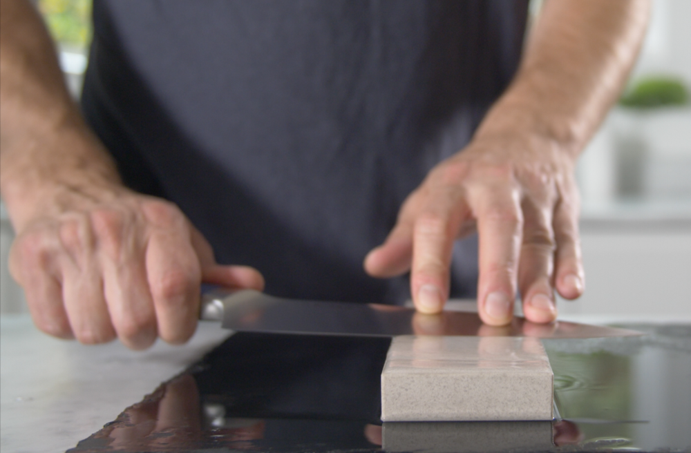
<svg viewBox="0 0 691 453"><path fill-rule="evenodd" d="M480 316L511 321L516 287L533 322L556 317L552 285L583 292L574 160L546 140L482 137L442 162L404 203L386 242L366 269L408 270L417 309L436 313L448 298L453 243L480 231Z"/></svg>

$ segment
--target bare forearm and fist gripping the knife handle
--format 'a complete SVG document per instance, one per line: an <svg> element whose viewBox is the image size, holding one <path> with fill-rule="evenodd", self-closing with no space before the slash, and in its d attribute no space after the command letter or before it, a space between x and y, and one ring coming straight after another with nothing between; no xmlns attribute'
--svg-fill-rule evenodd
<svg viewBox="0 0 691 453"><path fill-rule="evenodd" d="M39 329L133 348L182 343L200 282L262 289L248 267L220 266L173 204L125 189L70 98L41 17L0 0L0 186L17 238L10 272Z"/></svg>

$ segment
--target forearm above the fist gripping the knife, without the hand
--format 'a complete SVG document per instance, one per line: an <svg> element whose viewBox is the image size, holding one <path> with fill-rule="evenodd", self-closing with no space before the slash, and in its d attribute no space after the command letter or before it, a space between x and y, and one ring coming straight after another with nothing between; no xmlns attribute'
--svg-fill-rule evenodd
<svg viewBox="0 0 691 453"><path fill-rule="evenodd" d="M0 190L21 228L46 209L41 200L61 196L56 186L78 193L119 177L70 98L35 9L19 0L0 6Z"/></svg>

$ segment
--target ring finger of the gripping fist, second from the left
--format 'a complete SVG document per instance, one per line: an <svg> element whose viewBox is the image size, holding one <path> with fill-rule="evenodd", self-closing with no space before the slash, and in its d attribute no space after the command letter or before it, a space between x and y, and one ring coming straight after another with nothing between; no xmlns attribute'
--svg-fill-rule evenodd
<svg viewBox="0 0 691 453"><path fill-rule="evenodd" d="M58 258L62 298L79 343L95 345L115 338L103 293L100 265L94 256L91 223L85 217L61 225L63 253Z"/></svg>

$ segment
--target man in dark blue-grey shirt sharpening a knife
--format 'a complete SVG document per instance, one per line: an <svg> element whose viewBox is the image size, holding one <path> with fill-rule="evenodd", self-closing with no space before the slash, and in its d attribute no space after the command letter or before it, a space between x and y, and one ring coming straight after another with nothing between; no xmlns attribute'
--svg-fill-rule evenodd
<svg viewBox="0 0 691 453"><path fill-rule="evenodd" d="M283 296L395 302L410 271L437 313L469 293L472 269L450 267L476 228L482 320L510 322L517 291L529 320L554 320L553 289L584 288L576 157L648 5L547 1L516 70L526 10L99 1L87 126L39 17L3 0L0 187L36 325L183 342L200 282L263 286L209 242Z"/></svg>

